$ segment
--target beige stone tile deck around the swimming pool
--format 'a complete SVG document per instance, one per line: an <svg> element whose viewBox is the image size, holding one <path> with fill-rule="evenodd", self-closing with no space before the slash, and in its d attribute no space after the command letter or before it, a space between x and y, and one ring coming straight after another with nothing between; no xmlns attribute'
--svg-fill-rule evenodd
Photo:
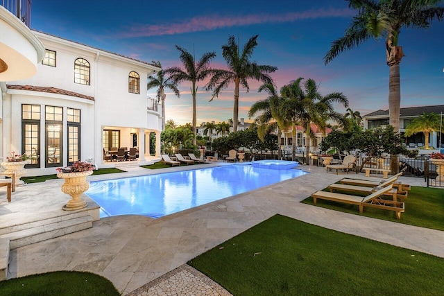
<svg viewBox="0 0 444 296"><path fill-rule="evenodd" d="M228 164L181 166L162 171L182 171L217 165ZM275 214L444 257L444 232L300 203L300 200L307 198L314 191L346 176L345 173L325 173L325 168L300 168L310 173L163 218L102 218L94 222L90 229L19 247L10 252L8 278L53 270L84 270L107 277L123 295L174 295L164 292L160 286L164 288L169 280L177 284L181 278L185 281L180 281L181 287L196 288L189 286L187 281L192 283L197 279L203 281L202 285L208 285L205 277L194 275L182 265ZM114 179L162 171L133 168L128 173L91 176L88 180ZM350 175L356 176L351 173ZM364 177L364 174L359 176ZM400 180L414 186L425 186L424 180L420 178L401 177ZM37 209L44 211L46 207L57 207L61 211L62 205L67 201L61 191L61 194L58 193L61 184L62 180L51 180L18 187L12 194L10 204L6 202L6 193L0 193L0 215L18 211L20 205L30 208L31 211L35 207L36 215ZM5 196L2 198L1 195ZM175 270L179 267L180 270ZM153 282L155 279L157 281ZM218 291L216 287L216 290L211 292L213 294L207 291L201 295L227 295L223 294L226 291ZM198 293L184 290L181 295Z"/></svg>

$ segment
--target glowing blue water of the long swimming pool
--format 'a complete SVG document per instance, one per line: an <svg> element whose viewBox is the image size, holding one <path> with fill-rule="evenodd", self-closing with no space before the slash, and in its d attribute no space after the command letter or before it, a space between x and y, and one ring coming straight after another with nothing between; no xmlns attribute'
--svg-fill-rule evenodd
<svg viewBox="0 0 444 296"><path fill-rule="evenodd" d="M159 218L305 173L251 165L219 166L91 182L86 193L101 206L101 218L123 214Z"/></svg>

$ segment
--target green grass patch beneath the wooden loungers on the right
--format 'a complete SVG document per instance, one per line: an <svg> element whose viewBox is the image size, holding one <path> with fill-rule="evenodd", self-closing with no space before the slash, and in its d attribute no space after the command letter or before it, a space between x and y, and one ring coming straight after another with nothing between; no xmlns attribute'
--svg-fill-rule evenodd
<svg viewBox="0 0 444 296"><path fill-rule="evenodd" d="M328 189L324 190L328 191ZM302 202L313 204L313 198L306 198ZM401 220L396 219L394 211L364 207L364 213L359 214L359 207L357 205L332 202L330 200L318 199L316 206L408 225L444 230L444 189L412 186L404 202L405 212L401 214Z"/></svg>

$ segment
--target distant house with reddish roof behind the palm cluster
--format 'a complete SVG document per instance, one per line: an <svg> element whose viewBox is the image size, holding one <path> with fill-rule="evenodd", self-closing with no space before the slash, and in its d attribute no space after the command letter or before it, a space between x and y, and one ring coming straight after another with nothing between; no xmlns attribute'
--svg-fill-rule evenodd
<svg viewBox="0 0 444 296"><path fill-rule="evenodd" d="M325 137L327 137L327 134L330 134L330 132L332 132L332 129L325 128L325 131L323 131L314 123L310 124L310 129L311 129L310 151L318 152L319 144ZM287 152L291 152L293 150L292 130L293 128L285 130L284 132L282 132L280 138L281 149ZM296 149L301 152L305 151L306 141L307 141L307 134L305 134L304 128L302 128L302 126L300 125L296 125Z"/></svg>

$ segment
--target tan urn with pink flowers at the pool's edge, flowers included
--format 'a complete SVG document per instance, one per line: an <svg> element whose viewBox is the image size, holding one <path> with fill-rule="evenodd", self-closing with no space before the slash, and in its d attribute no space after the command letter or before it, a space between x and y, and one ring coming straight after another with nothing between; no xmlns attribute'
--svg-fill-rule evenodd
<svg viewBox="0 0 444 296"><path fill-rule="evenodd" d="M56 168L58 171L57 177L65 180L62 185L62 192L71 195L71 200L62 209L74 211L87 206L87 202L80 198L80 195L89 189L89 182L87 182L86 177L92 175L94 168L94 164L80 161L74 162L71 166L65 168Z"/></svg>

